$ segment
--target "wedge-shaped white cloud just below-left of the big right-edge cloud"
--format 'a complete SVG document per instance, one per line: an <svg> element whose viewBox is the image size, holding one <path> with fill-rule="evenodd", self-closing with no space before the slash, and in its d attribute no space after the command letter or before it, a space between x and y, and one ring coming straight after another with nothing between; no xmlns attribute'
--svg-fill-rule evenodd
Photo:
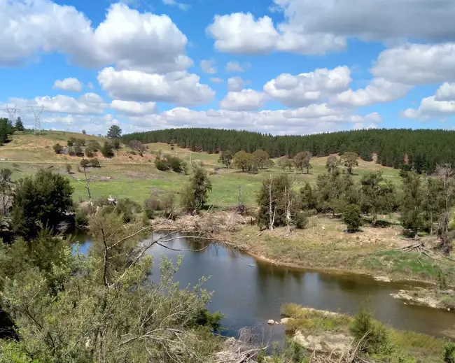
<svg viewBox="0 0 455 363"><path fill-rule="evenodd" d="M356 107L382 104L405 97L411 88L412 86L392 83L384 78L373 78L364 89L347 90L337 94L332 98L332 103Z"/></svg>

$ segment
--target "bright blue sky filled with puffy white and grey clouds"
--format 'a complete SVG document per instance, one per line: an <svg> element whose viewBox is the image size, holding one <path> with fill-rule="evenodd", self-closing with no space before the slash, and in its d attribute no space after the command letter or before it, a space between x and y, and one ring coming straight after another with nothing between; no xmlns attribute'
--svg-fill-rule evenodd
<svg viewBox="0 0 455 363"><path fill-rule="evenodd" d="M454 18L453 0L0 0L0 109L92 134L454 129Z"/></svg>

